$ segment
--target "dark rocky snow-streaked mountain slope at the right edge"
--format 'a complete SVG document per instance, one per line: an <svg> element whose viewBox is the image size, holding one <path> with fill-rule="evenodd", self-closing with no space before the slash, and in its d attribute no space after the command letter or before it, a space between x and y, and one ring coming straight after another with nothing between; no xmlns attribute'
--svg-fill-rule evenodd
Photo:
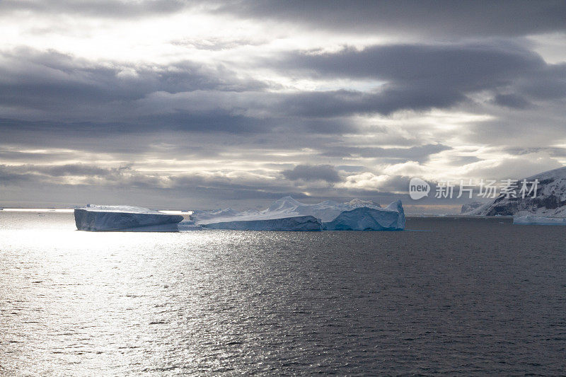
<svg viewBox="0 0 566 377"><path fill-rule="evenodd" d="M522 179L521 179L522 180ZM521 180L519 180L519 185ZM566 217L566 167L538 173L526 178L538 180L536 197L528 195L509 197L499 195L491 202L466 214L480 216L540 216Z"/></svg>

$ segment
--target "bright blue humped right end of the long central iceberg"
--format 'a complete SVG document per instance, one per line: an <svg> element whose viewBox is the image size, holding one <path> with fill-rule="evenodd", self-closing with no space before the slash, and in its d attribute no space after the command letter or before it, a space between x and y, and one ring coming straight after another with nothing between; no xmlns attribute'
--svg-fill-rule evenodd
<svg viewBox="0 0 566 377"><path fill-rule="evenodd" d="M323 224L325 231L403 231L405 211L401 201L385 209L360 207L343 211L336 219Z"/></svg>

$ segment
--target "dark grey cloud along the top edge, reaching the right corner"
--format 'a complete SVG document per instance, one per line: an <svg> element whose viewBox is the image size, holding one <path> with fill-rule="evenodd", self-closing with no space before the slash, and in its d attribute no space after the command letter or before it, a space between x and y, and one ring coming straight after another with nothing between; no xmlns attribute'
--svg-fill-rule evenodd
<svg viewBox="0 0 566 377"><path fill-rule="evenodd" d="M396 32L454 38L566 30L566 3L560 0L230 1L219 11L350 33Z"/></svg>

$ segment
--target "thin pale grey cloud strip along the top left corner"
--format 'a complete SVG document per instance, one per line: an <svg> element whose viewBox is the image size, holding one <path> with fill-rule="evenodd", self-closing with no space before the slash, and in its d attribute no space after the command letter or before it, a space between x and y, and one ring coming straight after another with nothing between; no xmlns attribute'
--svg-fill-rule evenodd
<svg viewBox="0 0 566 377"><path fill-rule="evenodd" d="M28 11L35 13L81 14L109 18L137 18L175 13L189 4L178 0L4 0L0 11Z"/></svg>

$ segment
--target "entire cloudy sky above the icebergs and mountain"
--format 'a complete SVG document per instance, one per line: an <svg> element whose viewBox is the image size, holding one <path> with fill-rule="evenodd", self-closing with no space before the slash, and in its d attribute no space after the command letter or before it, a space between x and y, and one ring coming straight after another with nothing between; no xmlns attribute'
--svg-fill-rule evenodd
<svg viewBox="0 0 566 377"><path fill-rule="evenodd" d="M0 206L386 203L566 163L564 1L4 0L0 34Z"/></svg>

